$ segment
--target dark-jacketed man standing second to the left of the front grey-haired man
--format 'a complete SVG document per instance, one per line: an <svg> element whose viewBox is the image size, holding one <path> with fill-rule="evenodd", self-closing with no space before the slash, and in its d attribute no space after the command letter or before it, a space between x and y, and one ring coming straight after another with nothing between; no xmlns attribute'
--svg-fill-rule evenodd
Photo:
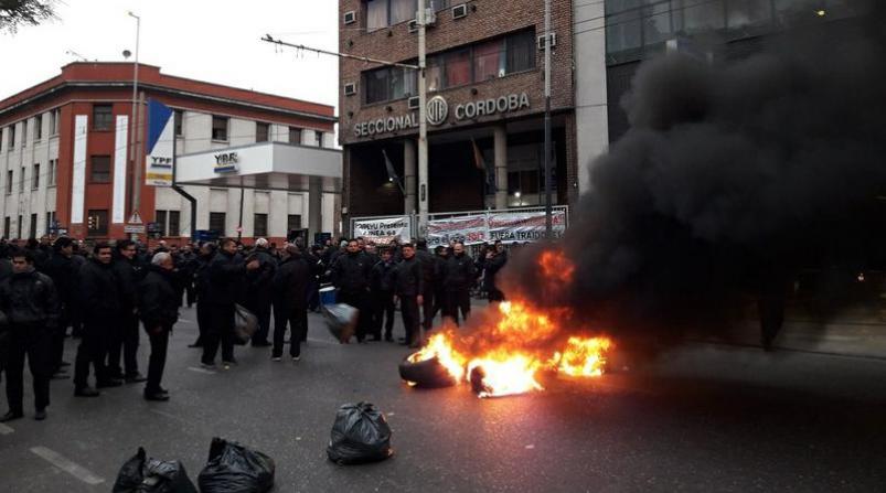
<svg viewBox="0 0 886 493"><path fill-rule="evenodd" d="M81 269L79 298L84 329L74 364L74 395L78 397L98 396L98 390L88 385L89 365L95 368L98 388L122 385L122 381L113 378L105 367L108 341L120 320L120 297L117 294L111 257L110 245L98 243L93 258Z"/></svg>

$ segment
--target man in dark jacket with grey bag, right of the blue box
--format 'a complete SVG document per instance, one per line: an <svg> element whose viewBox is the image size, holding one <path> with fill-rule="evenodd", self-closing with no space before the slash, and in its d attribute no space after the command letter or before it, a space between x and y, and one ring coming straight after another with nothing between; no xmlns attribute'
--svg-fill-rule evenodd
<svg viewBox="0 0 886 493"><path fill-rule="evenodd" d="M365 317L369 304L370 270L372 266L360 251L356 239L348 242L348 251L340 255L332 266L332 282L339 288L339 302L360 310L356 340L363 342L370 332L372 319Z"/></svg>

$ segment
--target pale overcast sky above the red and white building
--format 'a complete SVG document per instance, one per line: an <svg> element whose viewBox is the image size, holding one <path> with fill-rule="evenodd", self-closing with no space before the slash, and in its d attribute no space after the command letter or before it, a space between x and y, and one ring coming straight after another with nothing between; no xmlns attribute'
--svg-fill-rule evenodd
<svg viewBox="0 0 886 493"><path fill-rule="evenodd" d="M335 0L57 0L57 20L0 33L0 99L61 73L81 60L139 63L162 73L338 106L338 60L293 49L275 39L338 51ZM130 57L130 61L132 58ZM338 115L338 110L337 110Z"/></svg>

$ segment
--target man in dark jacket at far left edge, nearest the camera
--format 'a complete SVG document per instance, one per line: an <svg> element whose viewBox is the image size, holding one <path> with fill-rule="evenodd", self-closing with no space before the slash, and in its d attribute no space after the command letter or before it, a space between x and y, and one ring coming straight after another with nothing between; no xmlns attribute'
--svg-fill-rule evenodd
<svg viewBox="0 0 886 493"><path fill-rule="evenodd" d="M0 309L9 321L7 341L7 399L9 411L0 422L24 416L22 409L24 356L34 386L34 419L46 419L50 405L52 333L58 323L58 298L49 276L34 269L33 254L12 254L11 277L0 282Z"/></svg>

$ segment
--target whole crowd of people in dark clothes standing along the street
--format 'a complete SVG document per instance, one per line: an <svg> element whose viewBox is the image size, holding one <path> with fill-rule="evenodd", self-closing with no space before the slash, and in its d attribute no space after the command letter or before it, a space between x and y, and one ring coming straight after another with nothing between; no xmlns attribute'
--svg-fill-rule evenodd
<svg viewBox="0 0 886 493"><path fill-rule="evenodd" d="M477 259L461 243L438 246L394 239L375 245L363 238L305 247L300 238L277 247L264 238L245 246L164 242L153 248L121 239L89 247L68 237L26 244L0 240L0 372L7 378L9 411L0 422L23 416L25 360L32 375L34 418L46 418L50 382L71 377L74 395L98 397L99 389L146 383L145 398L168 400L161 386L169 334L183 304L196 303L201 365L228 368L234 354L235 311L245 307L258 329L249 343L270 347L282 360L301 357L308 312L320 309L320 288L331 283L338 302L359 309L356 341L394 342L395 307L403 317L401 344L417 347L421 328L437 315L467 320L477 287L501 301L498 271L508 261L501 243L483 245ZM271 333L271 321L274 331ZM147 376L139 371L139 325L150 343ZM68 329L71 330L68 334ZM65 362L65 337L79 339L76 357ZM92 373L92 375L90 375ZM95 385L90 385L90 376Z"/></svg>

